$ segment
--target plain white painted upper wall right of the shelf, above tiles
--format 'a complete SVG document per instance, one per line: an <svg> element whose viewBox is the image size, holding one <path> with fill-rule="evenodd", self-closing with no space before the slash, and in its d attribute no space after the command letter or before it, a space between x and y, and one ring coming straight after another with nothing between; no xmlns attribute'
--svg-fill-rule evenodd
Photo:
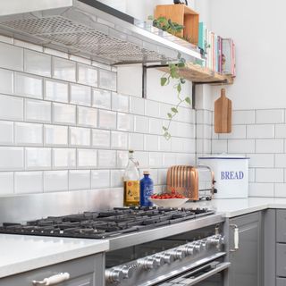
<svg viewBox="0 0 286 286"><path fill-rule="evenodd" d="M237 78L229 89L235 109L286 107L286 2L208 0L211 28L237 46Z"/></svg>

